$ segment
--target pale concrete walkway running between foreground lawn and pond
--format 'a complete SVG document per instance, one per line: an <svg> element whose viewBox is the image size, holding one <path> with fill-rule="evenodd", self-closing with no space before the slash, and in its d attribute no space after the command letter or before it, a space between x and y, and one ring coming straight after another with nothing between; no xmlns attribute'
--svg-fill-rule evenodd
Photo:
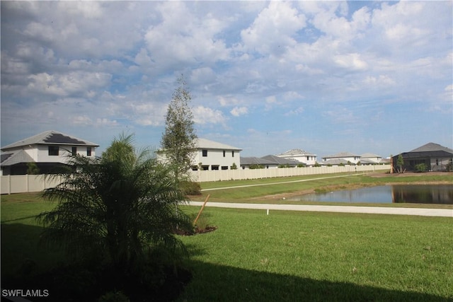
<svg viewBox="0 0 453 302"><path fill-rule="evenodd" d="M189 202L191 206L201 207L203 202ZM323 206L302 204L238 204L228 202L207 202L206 207L234 208L234 209L262 209L284 211L326 211L338 213L365 213L365 214L394 214L415 216L452 217L453 209L420 209L394 207L350 207L350 206Z"/></svg>

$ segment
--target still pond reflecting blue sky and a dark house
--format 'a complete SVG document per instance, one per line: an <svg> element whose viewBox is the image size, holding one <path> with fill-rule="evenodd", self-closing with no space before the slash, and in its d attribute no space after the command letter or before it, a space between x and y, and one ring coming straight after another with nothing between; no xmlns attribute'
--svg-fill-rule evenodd
<svg viewBox="0 0 453 302"><path fill-rule="evenodd" d="M453 185L382 185L290 197L292 201L453 204Z"/></svg>

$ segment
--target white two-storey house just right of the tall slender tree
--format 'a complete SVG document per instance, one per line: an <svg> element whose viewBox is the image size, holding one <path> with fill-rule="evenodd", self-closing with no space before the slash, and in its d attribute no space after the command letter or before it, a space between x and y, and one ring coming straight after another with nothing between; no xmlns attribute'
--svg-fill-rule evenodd
<svg viewBox="0 0 453 302"><path fill-rule="evenodd" d="M197 151L193 156L192 170L230 170L232 166L239 167L242 149L226 144L197 139Z"/></svg>

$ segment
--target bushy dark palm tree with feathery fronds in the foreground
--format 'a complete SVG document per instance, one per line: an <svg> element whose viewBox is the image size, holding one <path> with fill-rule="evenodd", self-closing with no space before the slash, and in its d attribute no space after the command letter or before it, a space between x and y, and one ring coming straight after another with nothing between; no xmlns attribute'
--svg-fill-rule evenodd
<svg viewBox="0 0 453 302"><path fill-rule="evenodd" d="M176 207L185 197L171 170L149 149L136 151L132 138L114 139L101 159L69 156L69 167L50 176L62 183L42 195L57 207L38 216L43 238L120 273L137 272L156 255L178 260L185 248L174 231L192 228Z"/></svg>

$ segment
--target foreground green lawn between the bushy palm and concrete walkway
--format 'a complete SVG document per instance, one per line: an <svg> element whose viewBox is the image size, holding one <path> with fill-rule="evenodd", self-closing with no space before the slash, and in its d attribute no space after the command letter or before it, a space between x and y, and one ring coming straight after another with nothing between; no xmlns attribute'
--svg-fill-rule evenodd
<svg viewBox="0 0 453 302"><path fill-rule="evenodd" d="M180 301L447 301L452 219L206 209Z"/></svg>

